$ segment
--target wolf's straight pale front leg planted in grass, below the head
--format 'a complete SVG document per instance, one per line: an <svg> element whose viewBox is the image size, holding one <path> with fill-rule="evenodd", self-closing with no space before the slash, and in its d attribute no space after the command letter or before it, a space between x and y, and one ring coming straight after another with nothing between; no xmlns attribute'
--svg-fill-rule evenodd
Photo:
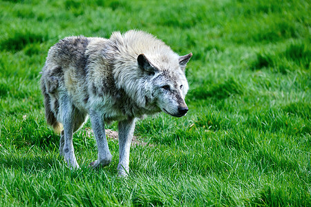
<svg viewBox="0 0 311 207"><path fill-rule="evenodd" d="M133 132L135 128L135 118L119 122L119 164L117 165L118 175L126 177L129 173L129 153Z"/></svg>

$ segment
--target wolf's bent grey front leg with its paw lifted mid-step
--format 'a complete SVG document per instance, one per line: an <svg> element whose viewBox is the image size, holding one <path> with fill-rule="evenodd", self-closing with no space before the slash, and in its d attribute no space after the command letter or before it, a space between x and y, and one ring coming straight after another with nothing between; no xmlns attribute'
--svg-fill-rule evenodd
<svg viewBox="0 0 311 207"><path fill-rule="evenodd" d="M93 168L100 165L107 166L111 163L112 156L106 139L104 118L101 112L91 110L90 119L98 148L98 158L91 163L91 166Z"/></svg>

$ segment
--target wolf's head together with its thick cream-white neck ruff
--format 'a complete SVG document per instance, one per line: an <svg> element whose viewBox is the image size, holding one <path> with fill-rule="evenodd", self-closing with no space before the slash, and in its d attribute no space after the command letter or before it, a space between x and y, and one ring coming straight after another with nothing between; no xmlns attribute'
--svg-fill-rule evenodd
<svg viewBox="0 0 311 207"><path fill-rule="evenodd" d="M108 42L117 88L122 88L150 114L163 112L182 117L188 111L189 86L185 67L192 53L179 56L160 39L146 32L114 32Z"/></svg>

